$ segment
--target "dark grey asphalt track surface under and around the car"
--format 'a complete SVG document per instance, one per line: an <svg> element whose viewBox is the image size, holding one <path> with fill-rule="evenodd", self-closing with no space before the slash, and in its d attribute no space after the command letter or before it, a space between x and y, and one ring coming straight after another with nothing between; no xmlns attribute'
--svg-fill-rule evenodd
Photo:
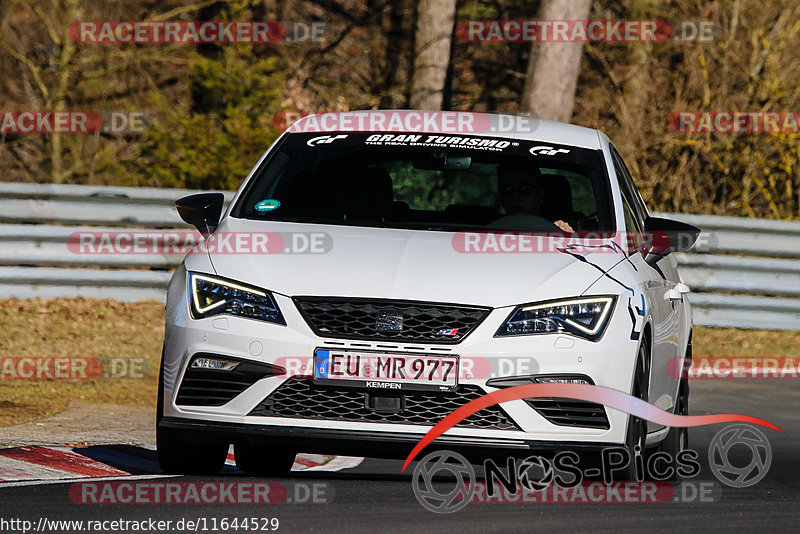
<svg viewBox="0 0 800 534"><path fill-rule="evenodd" d="M800 531L800 382L773 380L692 380L693 415L740 413L761 417L784 430L764 429L772 448L772 465L756 485L734 489L716 482L706 452L712 437L724 425L693 429L690 445L700 452L702 471L693 482L714 481L713 502L658 504L543 504L470 503L452 514L426 511L417 502L410 474L401 474L402 462L366 459L337 472L305 471L274 479L289 488L324 485L326 504L282 502L236 505L120 505L76 504L69 497L75 480L0 484L0 518L142 520L206 518L278 518L278 532L797 532ZM125 477L121 477L125 480ZM177 477L180 482L252 482L229 469L212 478ZM443 482L446 484L446 482ZM296 489L294 490L296 491ZM291 495L290 495L291 499ZM0 529L3 532L14 532ZM50 530L67 532L68 530ZM171 531L177 531L174 528ZM198 528L198 531L203 531ZM221 531L221 530L218 530ZM233 530L229 530L233 532Z"/></svg>

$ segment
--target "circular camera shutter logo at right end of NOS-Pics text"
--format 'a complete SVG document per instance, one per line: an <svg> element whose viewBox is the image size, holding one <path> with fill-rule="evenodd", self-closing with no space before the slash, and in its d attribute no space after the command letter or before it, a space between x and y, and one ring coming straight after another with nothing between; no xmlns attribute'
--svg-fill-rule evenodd
<svg viewBox="0 0 800 534"><path fill-rule="evenodd" d="M750 463L738 467L731 462L731 450L750 449ZM750 425L729 425L717 432L708 447L708 463L720 482L734 488L746 488L764 478L772 464L772 447L760 430Z"/></svg>

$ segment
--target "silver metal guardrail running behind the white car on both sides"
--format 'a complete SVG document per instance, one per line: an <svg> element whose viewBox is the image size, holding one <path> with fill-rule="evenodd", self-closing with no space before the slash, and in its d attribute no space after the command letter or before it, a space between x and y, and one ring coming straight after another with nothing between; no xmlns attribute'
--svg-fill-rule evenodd
<svg viewBox="0 0 800 534"><path fill-rule="evenodd" d="M0 183L0 297L164 300L174 254L77 255L77 232L182 229L174 202L196 191ZM225 193L226 202L233 197ZM800 330L800 223L661 214L703 229L677 254L696 324Z"/></svg>

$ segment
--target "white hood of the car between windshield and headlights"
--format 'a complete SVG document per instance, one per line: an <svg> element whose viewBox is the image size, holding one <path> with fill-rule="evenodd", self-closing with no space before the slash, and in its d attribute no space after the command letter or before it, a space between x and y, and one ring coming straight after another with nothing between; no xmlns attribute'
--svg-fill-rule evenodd
<svg viewBox="0 0 800 534"><path fill-rule="evenodd" d="M498 308L580 295L623 259L610 248L577 254L464 253L453 245L454 232L230 217L216 233L224 232L326 234L330 250L324 253L209 252L217 275L288 296L373 297Z"/></svg>

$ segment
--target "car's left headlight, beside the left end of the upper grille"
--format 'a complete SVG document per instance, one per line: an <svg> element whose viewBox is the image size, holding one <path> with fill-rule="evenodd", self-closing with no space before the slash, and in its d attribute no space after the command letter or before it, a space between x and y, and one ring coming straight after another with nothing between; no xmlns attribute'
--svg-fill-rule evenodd
<svg viewBox="0 0 800 534"><path fill-rule="evenodd" d="M195 319L227 313L286 324L269 291L197 273L189 273L189 291Z"/></svg>

